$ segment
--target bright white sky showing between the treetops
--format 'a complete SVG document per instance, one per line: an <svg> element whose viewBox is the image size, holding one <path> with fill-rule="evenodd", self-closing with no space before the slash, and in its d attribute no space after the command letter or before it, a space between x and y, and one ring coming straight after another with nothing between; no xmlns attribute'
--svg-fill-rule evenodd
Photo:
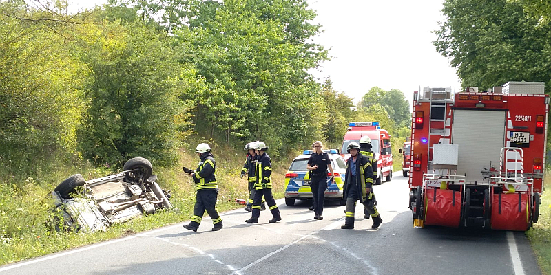
<svg viewBox="0 0 551 275"><path fill-rule="evenodd" d="M411 104L419 87L461 89L448 58L435 50L432 32L444 21L444 0L307 0L323 32L313 42L329 50L310 73L357 103L371 87L399 89ZM107 0L70 0L79 8Z"/></svg>

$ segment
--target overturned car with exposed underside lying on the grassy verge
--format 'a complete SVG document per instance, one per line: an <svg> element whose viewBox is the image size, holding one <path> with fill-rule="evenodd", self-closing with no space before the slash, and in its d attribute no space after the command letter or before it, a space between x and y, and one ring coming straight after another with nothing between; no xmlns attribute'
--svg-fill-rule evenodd
<svg viewBox="0 0 551 275"><path fill-rule="evenodd" d="M170 209L170 191L161 189L152 165L143 157L129 159L123 172L85 181L72 175L52 192L56 203L56 230L96 232L142 214ZM76 192L83 190L83 192Z"/></svg>

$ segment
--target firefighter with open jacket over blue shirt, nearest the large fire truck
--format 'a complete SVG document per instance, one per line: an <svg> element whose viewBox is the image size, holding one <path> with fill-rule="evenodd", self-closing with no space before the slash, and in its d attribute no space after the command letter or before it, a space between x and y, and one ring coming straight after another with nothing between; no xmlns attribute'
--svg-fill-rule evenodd
<svg viewBox="0 0 551 275"><path fill-rule="evenodd" d="M351 157L346 161L346 179L344 179L343 186L343 199L346 199L346 218L342 229L354 228L354 213L356 210L356 202L360 200L360 203L371 201L373 192L371 187L373 185L373 168L371 168L371 162L360 153L360 146L356 142L351 142L346 147ZM377 209L371 208L372 203L367 203L371 217L373 217L373 225L371 228L375 229L382 223L380 214Z"/></svg>

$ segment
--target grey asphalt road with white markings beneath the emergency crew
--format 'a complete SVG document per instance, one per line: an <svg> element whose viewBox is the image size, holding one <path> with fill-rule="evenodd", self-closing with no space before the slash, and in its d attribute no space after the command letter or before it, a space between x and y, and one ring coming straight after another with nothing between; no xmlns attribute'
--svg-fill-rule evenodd
<svg viewBox="0 0 551 275"><path fill-rule="evenodd" d="M400 174L400 175L398 175ZM523 232L413 228L401 173L375 186L384 220L371 230L357 206L353 230L342 230L344 206L326 202L313 220L311 201L278 206L282 221L247 224L243 209L222 214L224 228L182 225L67 250L0 267L0 274L541 274Z"/></svg>

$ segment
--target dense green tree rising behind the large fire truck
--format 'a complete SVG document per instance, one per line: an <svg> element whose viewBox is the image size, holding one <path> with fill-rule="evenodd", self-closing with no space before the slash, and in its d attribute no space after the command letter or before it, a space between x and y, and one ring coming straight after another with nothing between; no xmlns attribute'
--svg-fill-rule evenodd
<svg viewBox="0 0 551 275"><path fill-rule="evenodd" d="M527 17L518 1L447 0L442 12L434 44L464 87L526 80L551 88L550 23Z"/></svg>

